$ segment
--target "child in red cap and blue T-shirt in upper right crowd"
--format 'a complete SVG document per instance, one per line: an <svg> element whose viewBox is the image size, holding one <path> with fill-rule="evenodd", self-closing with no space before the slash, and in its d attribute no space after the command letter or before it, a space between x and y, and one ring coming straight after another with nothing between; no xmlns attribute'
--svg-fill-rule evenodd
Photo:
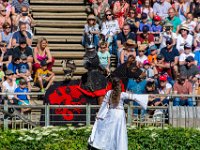
<svg viewBox="0 0 200 150"><path fill-rule="evenodd" d="M161 17L156 15L153 17L153 20L152 32L154 34L155 43L160 43L160 34L162 32L162 26L160 25Z"/></svg>

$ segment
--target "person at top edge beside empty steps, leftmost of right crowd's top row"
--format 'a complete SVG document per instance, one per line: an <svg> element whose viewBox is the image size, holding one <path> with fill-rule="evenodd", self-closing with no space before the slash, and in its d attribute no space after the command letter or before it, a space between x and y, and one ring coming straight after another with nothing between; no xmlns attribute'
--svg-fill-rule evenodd
<svg viewBox="0 0 200 150"><path fill-rule="evenodd" d="M97 17L97 22L101 26L102 19L104 17L104 13L110 8L108 2L105 0L97 0L96 3L92 5L92 9L94 10L94 15Z"/></svg>

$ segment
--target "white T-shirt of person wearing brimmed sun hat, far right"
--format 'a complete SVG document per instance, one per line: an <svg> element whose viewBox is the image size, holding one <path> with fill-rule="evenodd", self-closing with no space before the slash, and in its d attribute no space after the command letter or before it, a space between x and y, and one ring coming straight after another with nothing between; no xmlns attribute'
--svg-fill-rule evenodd
<svg viewBox="0 0 200 150"><path fill-rule="evenodd" d="M177 37L177 44L176 44L176 48L178 51L184 50L184 45L185 44L190 44L192 45L193 43L193 36L191 36L190 34L187 35L187 38L184 39L181 34L178 35Z"/></svg>

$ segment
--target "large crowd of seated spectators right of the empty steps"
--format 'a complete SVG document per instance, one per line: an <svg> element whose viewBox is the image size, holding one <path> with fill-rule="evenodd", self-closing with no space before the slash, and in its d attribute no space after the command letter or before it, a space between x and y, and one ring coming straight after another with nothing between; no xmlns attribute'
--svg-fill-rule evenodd
<svg viewBox="0 0 200 150"><path fill-rule="evenodd" d="M100 62L108 72L111 55L116 55L118 68L132 61L138 69L134 78L128 77L126 90L135 94L199 94L199 0L89 2L83 46L95 45ZM123 76L124 72L118 73ZM155 96L149 102L150 106L168 104L166 96ZM200 104L182 96L176 97L173 105ZM137 109L134 115L138 115Z"/></svg>

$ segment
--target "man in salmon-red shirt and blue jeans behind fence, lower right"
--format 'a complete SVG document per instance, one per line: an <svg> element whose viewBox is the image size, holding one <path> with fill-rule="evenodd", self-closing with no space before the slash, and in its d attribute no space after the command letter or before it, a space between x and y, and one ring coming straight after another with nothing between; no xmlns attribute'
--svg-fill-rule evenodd
<svg viewBox="0 0 200 150"><path fill-rule="evenodd" d="M187 80L187 77L181 75L174 83L174 94L192 95L192 83ZM176 97L173 101L174 106L193 106L191 97Z"/></svg>

